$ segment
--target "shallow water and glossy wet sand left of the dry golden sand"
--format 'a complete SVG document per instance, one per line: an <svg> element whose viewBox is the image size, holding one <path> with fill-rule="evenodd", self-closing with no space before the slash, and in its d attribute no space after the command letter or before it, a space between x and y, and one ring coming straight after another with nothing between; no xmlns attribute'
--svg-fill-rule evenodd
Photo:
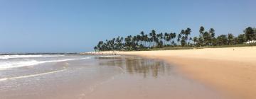
<svg viewBox="0 0 256 99"><path fill-rule="evenodd" d="M87 55L11 59L41 63L0 69L1 99L223 98L160 60Z"/></svg>

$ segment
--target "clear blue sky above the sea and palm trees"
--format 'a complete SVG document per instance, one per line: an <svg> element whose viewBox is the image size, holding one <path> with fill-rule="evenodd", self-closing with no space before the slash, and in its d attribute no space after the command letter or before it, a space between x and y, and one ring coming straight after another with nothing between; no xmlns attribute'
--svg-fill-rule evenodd
<svg viewBox="0 0 256 99"><path fill-rule="evenodd" d="M100 40L256 27L255 0L0 0L0 53L87 52Z"/></svg>

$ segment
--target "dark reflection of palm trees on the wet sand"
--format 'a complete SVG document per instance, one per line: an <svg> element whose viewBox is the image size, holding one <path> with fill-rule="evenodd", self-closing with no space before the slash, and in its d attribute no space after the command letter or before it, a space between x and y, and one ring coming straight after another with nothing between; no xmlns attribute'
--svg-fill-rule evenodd
<svg viewBox="0 0 256 99"><path fill-rule="evenodd" d="M158 78L159 74L168 74L171 70L171 66L165 62L140 57L97 57L97 59L110 59L107 62L100 62L100 65L118 66L129 74L142 74L144 78L148 76Z"/></svg>

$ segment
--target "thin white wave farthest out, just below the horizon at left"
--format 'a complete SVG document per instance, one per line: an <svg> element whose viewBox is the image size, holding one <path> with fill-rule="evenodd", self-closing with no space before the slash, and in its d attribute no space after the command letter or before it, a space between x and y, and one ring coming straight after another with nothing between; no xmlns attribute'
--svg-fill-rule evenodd
<svg viewBox="0 0 256 99"><path fill-rule="evenodd" d="M0 59L14 59L14 58L34 58L34 57L62 57L60 54L11 54L0 55Z"/></svg>

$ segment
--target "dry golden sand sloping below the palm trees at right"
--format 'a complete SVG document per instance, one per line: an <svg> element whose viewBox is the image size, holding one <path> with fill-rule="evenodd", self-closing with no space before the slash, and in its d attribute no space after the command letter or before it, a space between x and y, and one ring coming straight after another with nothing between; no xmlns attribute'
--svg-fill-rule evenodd
<svg viewBox="0 0 256 99"><path fill-rule="evenodd" d="M105 52L110 53L110 52ZM164 59L232 98L256 98L256 47L117 52Z"/></svg>

